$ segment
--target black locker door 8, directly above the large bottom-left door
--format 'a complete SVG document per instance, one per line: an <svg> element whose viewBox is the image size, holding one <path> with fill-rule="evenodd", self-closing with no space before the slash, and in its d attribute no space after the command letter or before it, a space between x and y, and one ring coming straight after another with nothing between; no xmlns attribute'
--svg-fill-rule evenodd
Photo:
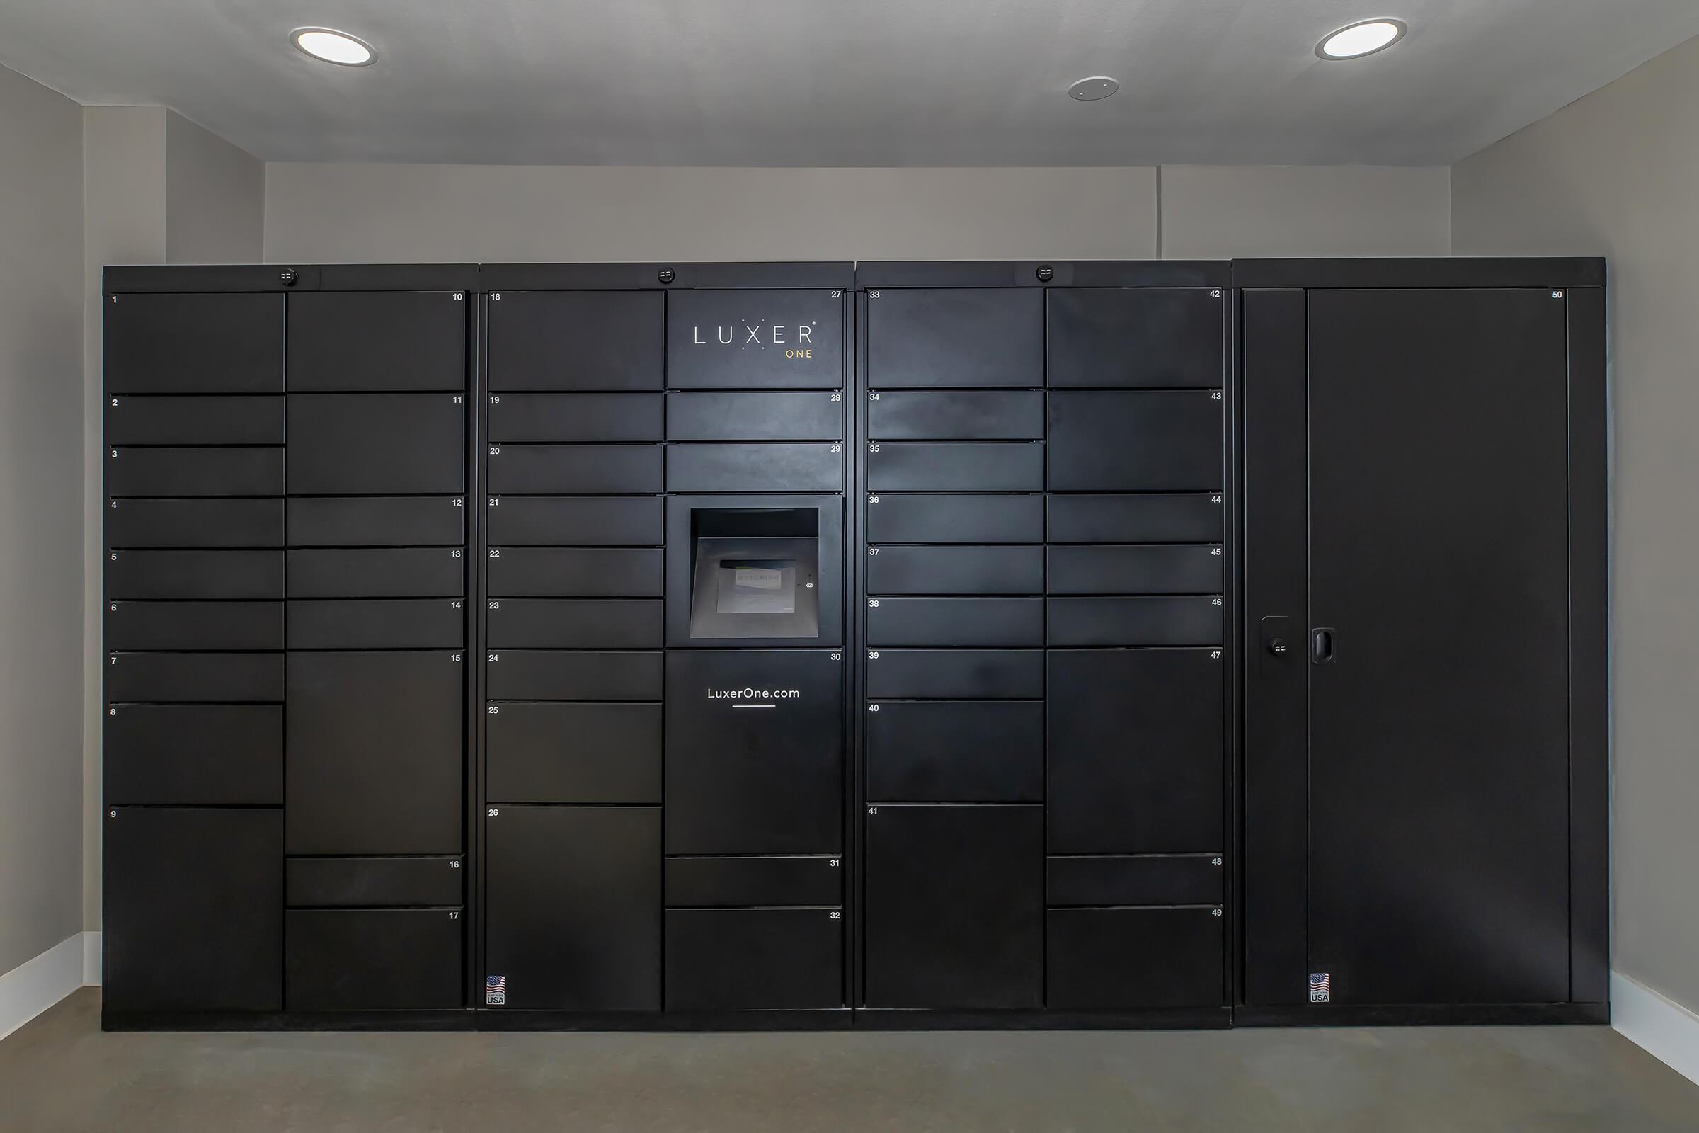
<svg viewBox="0 0 1699 1133"><path fill-rule="evenodd" d="M107 805L284 802L284 710L277 705L114 703L104 746Z"/></svg>

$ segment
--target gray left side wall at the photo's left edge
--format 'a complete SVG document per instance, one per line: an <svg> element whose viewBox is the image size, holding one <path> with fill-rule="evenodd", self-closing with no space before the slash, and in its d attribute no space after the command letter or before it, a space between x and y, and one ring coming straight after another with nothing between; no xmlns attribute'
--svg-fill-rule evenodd
<svg viewBox="0 0 1699 1133"><path fill-rule="evenodd" d="M82 931L82 138L0 68L0 973Z"/></svg>

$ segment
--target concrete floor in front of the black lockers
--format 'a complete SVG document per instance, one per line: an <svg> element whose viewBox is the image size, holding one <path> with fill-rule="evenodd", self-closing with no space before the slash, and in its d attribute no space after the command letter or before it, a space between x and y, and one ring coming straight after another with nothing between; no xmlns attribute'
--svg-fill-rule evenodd
<svg viewBox="0 0 1699 1133"><path fill-rule="evenodd" d="M1699 1085L1606 1028L102 1034L0 1043L5 1133L1667 1133Z"/></svg>

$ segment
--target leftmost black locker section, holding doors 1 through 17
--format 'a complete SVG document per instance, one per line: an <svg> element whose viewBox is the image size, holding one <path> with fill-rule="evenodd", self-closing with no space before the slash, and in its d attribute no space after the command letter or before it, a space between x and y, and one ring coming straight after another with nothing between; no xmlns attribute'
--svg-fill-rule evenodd
<svg viewBox="0 0 1699 1133"><path fill-rule="evenodd" d="M109 1014L466 1004L476 282L109 268Z"/></svg>

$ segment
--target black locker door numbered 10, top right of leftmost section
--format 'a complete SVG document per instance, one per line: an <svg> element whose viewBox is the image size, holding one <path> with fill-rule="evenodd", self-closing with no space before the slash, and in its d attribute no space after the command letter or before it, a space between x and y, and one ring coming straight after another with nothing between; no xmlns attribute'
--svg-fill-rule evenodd
<svg viewBox="0 0 1699 1133"><path fill-rule="evenodd" d="M466 389L466 292L289 296L289 391Z"/></svg>

